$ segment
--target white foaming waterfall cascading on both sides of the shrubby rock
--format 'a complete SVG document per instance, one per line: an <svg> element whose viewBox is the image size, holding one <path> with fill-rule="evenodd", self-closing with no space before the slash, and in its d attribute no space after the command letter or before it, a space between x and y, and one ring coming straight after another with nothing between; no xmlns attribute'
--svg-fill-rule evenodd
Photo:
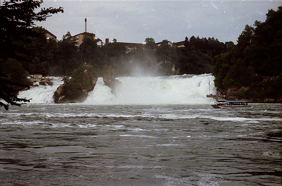
<svg viewBox="0 0 282 186"><path fill-rule="evenodd" d="M215 93L214 77L211 74L165 77L120 77L121 83L116 95L98 78L93 91L88 93L84 104L203 104L212 103L206 98ZM210 82L210 86L209 86ZM61 78L53 78L53 86L31 87L19 94L20 98L31 99L31 103L53 103L53 93Z"/></svg>

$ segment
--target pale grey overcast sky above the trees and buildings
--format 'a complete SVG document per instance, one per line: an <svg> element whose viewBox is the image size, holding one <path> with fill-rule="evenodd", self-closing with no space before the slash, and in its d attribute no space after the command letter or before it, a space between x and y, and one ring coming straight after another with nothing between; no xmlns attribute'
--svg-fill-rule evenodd
<svg viewBox="0 0 282 186"><path fill-rule="evenodd" d="M41 8L64 8L36 23L58 40L67 32L85 31L105 42L142 43L152 37L183 41L185 36L214 37L235 44L245 25L265 21L269 9L277 10L282 0L43 0Z"/></svg>

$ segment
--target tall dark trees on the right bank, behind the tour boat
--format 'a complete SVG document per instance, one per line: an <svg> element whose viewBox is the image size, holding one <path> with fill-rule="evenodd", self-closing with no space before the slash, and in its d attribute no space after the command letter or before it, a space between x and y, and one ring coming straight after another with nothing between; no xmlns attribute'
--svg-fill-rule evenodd
<svg viewBox="0 0 282 186"><path fill-rule="evenodd" d="M237 46L215 56L212 74L215 86L248 86L239 94L244 98L282 101L282 6L269 10L264 22L246 25ZM227 43L230 46L230 43Z"/></svg>

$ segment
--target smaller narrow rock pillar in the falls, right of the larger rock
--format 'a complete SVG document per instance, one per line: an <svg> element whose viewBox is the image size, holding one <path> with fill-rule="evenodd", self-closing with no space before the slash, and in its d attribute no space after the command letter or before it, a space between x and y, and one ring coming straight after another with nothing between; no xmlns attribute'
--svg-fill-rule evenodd
<svg viewBox="0 0 282 186"><path fill-rule="evenodd" d="M102 77L106 86L112 89L112 93L116 94L118 87L122 84L119 80L115 79L114 69L111 66L105 66L102 69Z"/></svg>

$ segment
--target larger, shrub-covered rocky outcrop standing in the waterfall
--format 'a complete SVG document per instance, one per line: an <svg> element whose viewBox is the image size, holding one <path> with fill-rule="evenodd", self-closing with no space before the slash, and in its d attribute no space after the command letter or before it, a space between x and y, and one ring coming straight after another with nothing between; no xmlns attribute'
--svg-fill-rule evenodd
<svg viewBox="0 0 282 186"><path fill-rule="evenodd" d="M94 89L98 76L92 66L84 64L73 71L71 78L64 77L64 84L54 92L55 103L83 102L88 97L88 92Z"/></svg>

